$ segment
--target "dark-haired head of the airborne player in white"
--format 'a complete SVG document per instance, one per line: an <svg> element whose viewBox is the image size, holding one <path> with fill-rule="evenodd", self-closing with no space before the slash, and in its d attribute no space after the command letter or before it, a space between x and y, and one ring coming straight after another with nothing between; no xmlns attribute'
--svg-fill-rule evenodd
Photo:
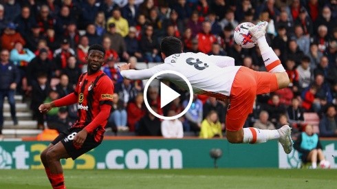
<svg viewBox="0 0 337 189"><path fill-rule="evenodd" d="M182 53L182 41L174 36L166 36L160 43L160 49L165 56Z"/></svg>

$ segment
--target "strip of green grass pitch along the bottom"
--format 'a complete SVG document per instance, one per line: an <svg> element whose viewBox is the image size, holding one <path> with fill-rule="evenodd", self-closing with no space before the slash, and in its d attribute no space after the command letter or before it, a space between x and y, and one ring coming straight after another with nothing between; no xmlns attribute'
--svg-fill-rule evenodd
<svg viewBox="0 0 337 189"><path fill-rule="evenodd" d="M67 188L337 188L337 170L65 170ZM0 170L0 188L52 188L44 170Z"/></svg>

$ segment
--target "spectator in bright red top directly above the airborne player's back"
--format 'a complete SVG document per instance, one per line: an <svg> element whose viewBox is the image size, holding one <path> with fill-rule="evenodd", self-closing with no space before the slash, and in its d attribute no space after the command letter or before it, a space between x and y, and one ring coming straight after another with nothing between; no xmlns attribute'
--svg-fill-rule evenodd
<svg viewBox="0 0 337 189"><path fill-rule="evenodd" d="M215 36L210 33L210 30L210 22L205 21L202 23L202 32L196 36L199 41L199 51L205 54L211 51L212 43L216 41Z"/></svg>

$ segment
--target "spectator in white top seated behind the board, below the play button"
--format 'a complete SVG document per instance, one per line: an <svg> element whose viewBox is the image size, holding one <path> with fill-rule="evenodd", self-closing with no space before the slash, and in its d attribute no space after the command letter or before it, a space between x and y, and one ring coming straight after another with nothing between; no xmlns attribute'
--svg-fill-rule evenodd
<svg viewBox="0 0 337 189"><path fill-rule="evenodd" d="M167 113L168 117L177 115L174 110L169 110ZM178 119L174 120L163 120L160 126L162 135L164 138L182 138L184 137L184 129L182 122Z"/></svg>

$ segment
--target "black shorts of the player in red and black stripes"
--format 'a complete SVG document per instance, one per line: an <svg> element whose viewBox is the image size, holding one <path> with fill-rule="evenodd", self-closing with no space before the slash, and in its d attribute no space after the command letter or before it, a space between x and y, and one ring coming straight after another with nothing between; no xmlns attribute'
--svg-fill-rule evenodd
<svg viewBox="0 0 337 189"><path fill-rule="evenodd" d="M80 131L82 131L82 128L71 128L67 132L60 133L58 137L52 141L52 144L55 145L58 142L62 142L68 155L72 157L73 160L75 160L77 157L80 157L80 155L91 151L93 148L96 148L102 142L96 142L94 135L88 133L85 142L83 142L83 145L80 148L76 148L73 144L73 140L75 135Z"/></svg>

